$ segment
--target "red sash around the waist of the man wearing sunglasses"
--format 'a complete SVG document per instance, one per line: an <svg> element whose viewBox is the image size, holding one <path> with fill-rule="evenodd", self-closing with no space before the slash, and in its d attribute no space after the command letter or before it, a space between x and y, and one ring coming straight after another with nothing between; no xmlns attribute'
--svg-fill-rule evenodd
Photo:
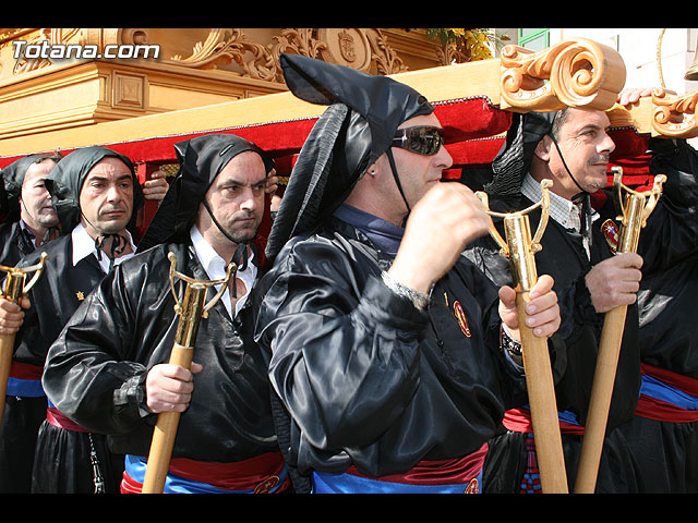
<svg viewBox="0 0 698 523"><path fill-rule="evenodd" d="M457 485L468 484L482 470L488 455L489 446L484 443L480 449L464 458L454 460L420 461L405 474L388 474L371 477L361 474L356 466L347 469L347 474L370 477L381 482L405 483L410 485Z"/></svg>

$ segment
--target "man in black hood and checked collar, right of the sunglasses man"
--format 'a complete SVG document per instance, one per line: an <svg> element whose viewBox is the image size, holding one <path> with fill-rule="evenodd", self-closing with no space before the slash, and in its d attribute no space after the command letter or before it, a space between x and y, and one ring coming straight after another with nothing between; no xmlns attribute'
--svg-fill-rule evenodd
<svg viewBox="0 0 698 523"><path fill-rule="evenodd" d="M551 339L558 346L552 364L570 490L603 316L618 305L628 305L597 483L598 492L627 494L642 488L637 463L618 429L633 417L640 388L636 305L640 269L665 267L672 258L681 258L695 248L698 227L693 216L698 199L695 180L670 175L664 194L640 234L640 254L615 254L617 238L613 231L617 232L615 218L619 210L611 193L602 191L615 148L609 126L609 117L598 110L565 108L551 113L515 114L506 144L493 161L493 179L485 191L493 210L513 212L540 200L543 179L553 181L551 219L535 262L540 271L555 279L554 289L559 296L563 323ZM677 191L682 184L685 191ZM530 217L534 229L540 210ZM509 263L498 253L491 239L481 239L465 254L495 283L507 284L512 281ZM491 441L485 486L504 494L540 492L528 409L507 412L504 427L503 434Z"/></svg>

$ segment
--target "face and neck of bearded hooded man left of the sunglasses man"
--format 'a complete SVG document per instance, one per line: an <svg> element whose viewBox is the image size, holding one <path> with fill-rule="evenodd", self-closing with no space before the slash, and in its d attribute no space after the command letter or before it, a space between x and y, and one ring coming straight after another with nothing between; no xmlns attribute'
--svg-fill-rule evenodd
<svg viewBox="0 0 698 523"><path fill-rule="evenodd" d="M264 216L265 187L264 162L253 151L234 156L208 187L205 196L208 207L236 242L249 242L256 235ZM224 252L234 250L236 245L230 245L230 240L213 222L203 204L198 208L196 227L221 256Z"/></svg>

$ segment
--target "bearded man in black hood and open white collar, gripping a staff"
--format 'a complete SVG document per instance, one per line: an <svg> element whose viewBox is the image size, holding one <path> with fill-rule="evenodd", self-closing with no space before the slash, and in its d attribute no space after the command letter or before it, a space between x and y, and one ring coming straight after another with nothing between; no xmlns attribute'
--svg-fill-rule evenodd
<svg viewBox="0 0 698 523"><path fill-rule="evenodd" d="M252 338L250 297L263 270L255 238L273 161L231 134L176 150L180 171L139 254L68 323L49 351L44 387L67 416L125 454L122 492L141 491L157 415L168 411L182 415L165 492L284 491L268 361ZM177 272L196 280L222 278L231 260L239 267L234 285L200 323L191 372L168 363L180 318L169 253ZM185 282L172 285L181 303Z"/></svg>

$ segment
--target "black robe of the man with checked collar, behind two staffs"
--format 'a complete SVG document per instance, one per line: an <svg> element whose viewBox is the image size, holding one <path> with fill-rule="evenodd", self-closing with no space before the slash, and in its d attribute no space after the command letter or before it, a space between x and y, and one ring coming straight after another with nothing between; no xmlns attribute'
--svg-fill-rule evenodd
<svg viewBox="0 0 698 523"><path fill-rule="evenodd" d="M493 204L493 208L496 204ZM531 205L522 198L521 206ZM535 230L540 211L530 216L531 229ZM602 221L602 220L599 220ZM599 221L592 227L591 260L583 251L581 235L570 233L554 220L549 220L541 239L542 251L535 255L539 275L550 275L555 284L563 324L555 341L564 350L557 351L551 361L556 381L558 411L574 412L583 425L591 394L597 351L603 315L597 315L591 296L585 284L585 276L591 267L612 256L600 231ZM497 228L500 222L497 221ZM504 232L502 235L504 238ZM480 239L469 246L465 255L472 259L496 284L510 285L509 260L500 255L500 247L490 238ZM638 344L637 306L628 307L623 337L614 399L609 415L609 427L616 427L635 412L640 386L640 353Z"/></svg>

